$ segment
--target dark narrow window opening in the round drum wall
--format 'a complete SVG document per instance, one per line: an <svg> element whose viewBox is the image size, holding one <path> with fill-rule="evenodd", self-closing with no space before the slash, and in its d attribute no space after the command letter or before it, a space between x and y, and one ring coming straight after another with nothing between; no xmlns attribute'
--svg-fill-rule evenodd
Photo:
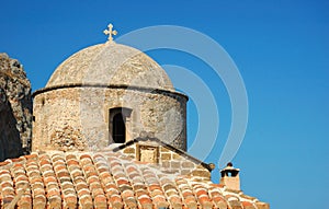
<svg viewBox="0 0 329 209"><path fill-rule="evenodd" d="M122 113L117 113L113 117L112 137L115 143L124 143L126 141L126 126Z"/></svg>

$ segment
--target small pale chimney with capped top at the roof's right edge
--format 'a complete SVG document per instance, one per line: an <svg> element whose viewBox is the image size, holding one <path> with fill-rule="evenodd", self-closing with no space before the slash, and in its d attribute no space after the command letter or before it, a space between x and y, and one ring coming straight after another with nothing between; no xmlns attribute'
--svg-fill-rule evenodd
<svg viewBox="0 0 329 209"><path fill-rule="evenodd" d="M239 169L232 166L232 163L227 163L227 166L220 171L220 184L225 185L228 189L240 190Z"/></svg>

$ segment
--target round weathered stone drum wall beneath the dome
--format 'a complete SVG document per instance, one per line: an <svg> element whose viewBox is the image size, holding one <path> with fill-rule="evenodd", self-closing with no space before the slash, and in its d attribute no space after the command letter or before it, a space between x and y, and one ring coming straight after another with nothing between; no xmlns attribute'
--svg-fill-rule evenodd
<svg viewBox="0 0 329 209"><path fill-rule="evenodd" d="M137 138L146 130L154 132L160 140L185 150L186 100L174 92L121 86L63 86L41 90L34 96L33 150L54 150L59 144L54 146L54 142L61 140L55 140L54 136L66 132L68 127L79 132L86 148L64 148L66 143L60 142L64 146L61 150L104 149L113 143L109 114L115 107L133 109L125 121L126 141Z"/></svg>

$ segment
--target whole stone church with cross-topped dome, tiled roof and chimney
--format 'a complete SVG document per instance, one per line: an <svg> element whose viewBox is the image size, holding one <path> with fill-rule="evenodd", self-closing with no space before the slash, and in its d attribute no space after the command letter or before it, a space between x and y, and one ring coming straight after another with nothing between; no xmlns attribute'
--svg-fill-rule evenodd
<svg viewBox="0 0 329 209"><path fill-rule="evenodd" d="M33 93L32 152L0 162L1 208L269 209L228 163L186 152L186 103L143 51L113 40L79 50Z"/></svg>

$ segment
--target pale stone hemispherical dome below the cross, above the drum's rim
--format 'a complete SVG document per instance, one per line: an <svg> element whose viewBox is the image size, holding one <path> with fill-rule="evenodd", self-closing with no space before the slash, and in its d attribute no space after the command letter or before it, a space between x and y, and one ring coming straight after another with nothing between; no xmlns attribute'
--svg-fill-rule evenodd
<svg viewBox="0 0 329 209"><path fill-rule="evenodd" d="M46 88L70 84L173 90L168 74L155 60L114 42L90 46L70 56L55 70Z"/></svg>

